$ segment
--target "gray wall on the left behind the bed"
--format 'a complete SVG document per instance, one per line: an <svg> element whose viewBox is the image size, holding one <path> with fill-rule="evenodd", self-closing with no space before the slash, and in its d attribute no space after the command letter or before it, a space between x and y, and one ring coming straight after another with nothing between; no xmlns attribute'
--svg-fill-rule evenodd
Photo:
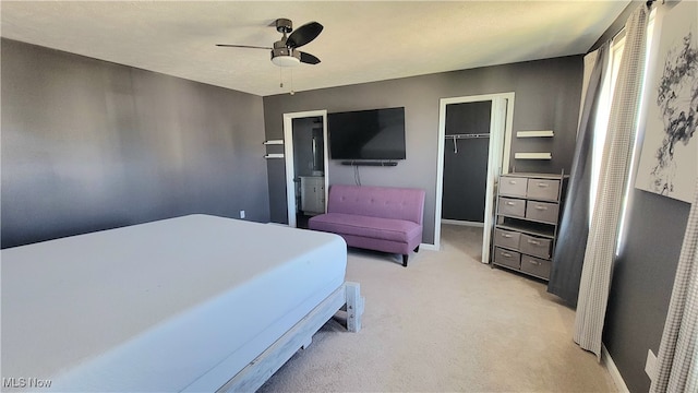
<svg viewBox="0 0 698 393"><path fill-rule="evenodd" d="M2 39L2 248L269 218L262 97Z"/></svg>

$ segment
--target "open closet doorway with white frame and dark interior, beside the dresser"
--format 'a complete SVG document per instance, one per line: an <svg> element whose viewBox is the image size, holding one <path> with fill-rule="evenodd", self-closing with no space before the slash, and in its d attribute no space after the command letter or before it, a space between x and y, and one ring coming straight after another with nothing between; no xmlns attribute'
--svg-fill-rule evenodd
<svg viewBox="0 0 698 393"><path fill-rule="evenodd" d="M490 262L494 194L508 171L514 93L442 98L434 246L441 224L482 227L482 263Z"/></svg>

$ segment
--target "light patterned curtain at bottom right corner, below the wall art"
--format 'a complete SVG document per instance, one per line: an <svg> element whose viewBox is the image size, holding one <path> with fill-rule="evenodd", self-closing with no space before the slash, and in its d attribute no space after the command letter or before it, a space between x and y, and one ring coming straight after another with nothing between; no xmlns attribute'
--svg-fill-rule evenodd
<svg viewBox="0 0 698 393"><path fill-rule="evenodd" d="M650 392L698 392L698 181Z"/></svg>

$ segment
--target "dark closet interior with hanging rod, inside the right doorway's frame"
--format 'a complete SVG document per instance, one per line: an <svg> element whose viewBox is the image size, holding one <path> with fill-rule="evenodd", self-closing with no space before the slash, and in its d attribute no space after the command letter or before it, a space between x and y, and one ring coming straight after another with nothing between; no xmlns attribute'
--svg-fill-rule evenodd
<svg viewBox="0 0 698 393"><path fill-rule="evenodd" d="M484 223L492 102L446 106L442 218Z"/></svg>

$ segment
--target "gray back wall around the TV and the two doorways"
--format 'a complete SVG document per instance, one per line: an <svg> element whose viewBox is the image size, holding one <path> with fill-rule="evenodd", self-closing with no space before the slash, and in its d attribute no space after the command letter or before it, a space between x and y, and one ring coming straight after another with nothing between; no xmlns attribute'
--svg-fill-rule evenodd
<svg viewBox="0 0 698 393"><path fill-rule="evenodd" d="M518 141L512 152L552 151L550 162L515 162L517 171L559 172L570 168L581 94L581 56L530 61L399 80L264 97L267 139L282 139L282 115L405 107L407 159L397 167L361 167L365 186L416 187L426 191L423 242L434 242L440 98L515 92L514 132L554 130L545 141ZM542 145L541 145L542 144ZM270 217L286 223L285 167L269 160ZM353 169L330 162L329 183L354 182Z"/></svg>

